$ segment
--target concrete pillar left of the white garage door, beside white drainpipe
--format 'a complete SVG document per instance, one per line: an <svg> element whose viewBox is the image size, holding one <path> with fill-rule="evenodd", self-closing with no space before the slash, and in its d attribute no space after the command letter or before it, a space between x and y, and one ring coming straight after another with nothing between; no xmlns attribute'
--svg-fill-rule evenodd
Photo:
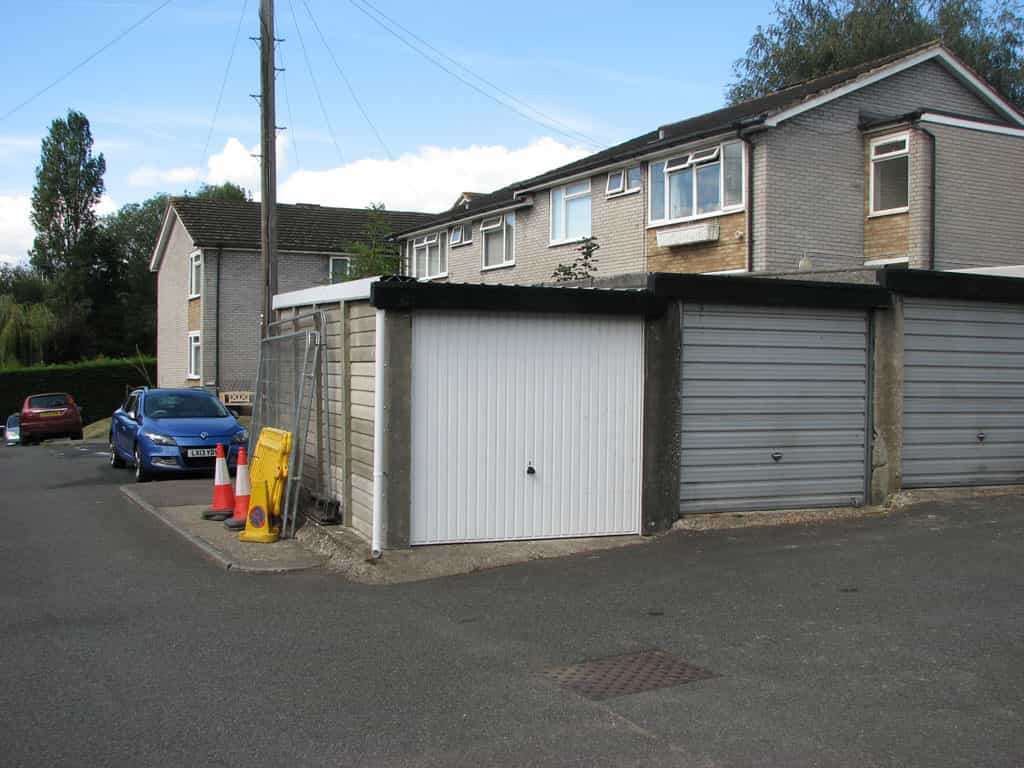
<svg viewBox="0 0 1024 768"><path fill-rule="evenodd" d="M384 324L387 334L386 381L377 382L386 393L384 423L374 426L384 430L387 457L387 489L384 494L384 546L387 549L409 547L411 524L412 441L413 441L413 313L408 309L388 309ZM378 329L380 333L380 329Z"/></svg>

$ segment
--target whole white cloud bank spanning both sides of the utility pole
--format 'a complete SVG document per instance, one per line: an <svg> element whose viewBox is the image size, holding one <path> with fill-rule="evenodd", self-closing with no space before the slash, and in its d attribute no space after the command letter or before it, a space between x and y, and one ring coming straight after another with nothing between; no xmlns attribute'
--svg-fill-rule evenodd
<svg viewBox="0 0 1024 768"><path fill-rule="evenodd" d="M288 151L286 136L278 138L279 168ZM130 183L158 186L163 183L220 184L232 181L249 189L259 200L259 146L247 147L229 138L224 148L211 155L207 173L182 167L136 169ZM279 184L283 203L362 208L384 203L392 210L442 211L464 191L488 193L518 179L528 178L587 155L550 137L525 146L509 148L500 144L466 147L424 146L395 160L356 160L323 171L295 171Z"/></svg>

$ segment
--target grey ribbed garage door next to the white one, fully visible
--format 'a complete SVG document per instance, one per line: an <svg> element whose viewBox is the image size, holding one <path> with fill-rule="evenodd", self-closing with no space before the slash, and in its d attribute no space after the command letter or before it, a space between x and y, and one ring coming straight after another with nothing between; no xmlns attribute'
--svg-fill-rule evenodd
<svg viewBox="0 0 1024 768"><path fill-rule="evenodd" d="M864 503L867 317L687 304L683 512Z"/></svg>

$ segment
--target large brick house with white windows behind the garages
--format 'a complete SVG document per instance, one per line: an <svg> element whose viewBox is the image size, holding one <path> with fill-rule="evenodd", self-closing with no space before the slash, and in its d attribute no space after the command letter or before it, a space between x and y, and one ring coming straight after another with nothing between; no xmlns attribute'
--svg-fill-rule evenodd
<svg viewBox="0 0 1024 768"><path fill-rule="evenodd" d="M937 43L662 126L400 232L421 279L1024 265L1024 117ZM992 201L998 205L992 205Z"/></svg>

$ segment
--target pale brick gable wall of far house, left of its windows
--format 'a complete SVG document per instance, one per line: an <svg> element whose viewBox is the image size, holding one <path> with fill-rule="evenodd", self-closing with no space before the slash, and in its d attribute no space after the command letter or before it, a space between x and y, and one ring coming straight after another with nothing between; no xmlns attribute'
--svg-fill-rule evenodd
<svg viewBox="0 0 1024 768"><path fill-rule="evenodd" d="M188 372L188 255L191 238L174 219L157 273L157 384L183 387Z"/></svg>

